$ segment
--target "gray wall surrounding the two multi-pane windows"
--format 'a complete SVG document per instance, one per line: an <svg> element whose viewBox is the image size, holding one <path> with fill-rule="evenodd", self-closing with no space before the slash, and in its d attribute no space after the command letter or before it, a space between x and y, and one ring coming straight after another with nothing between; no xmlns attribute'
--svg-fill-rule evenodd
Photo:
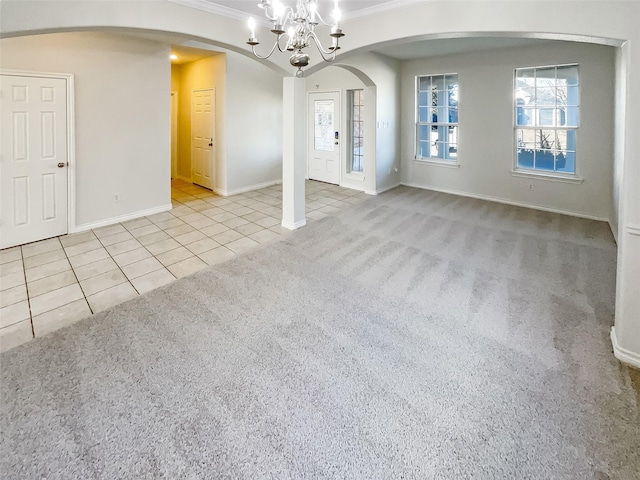
<svg viewBox="0 0 640 480"><path fill-rule="evenodd" d="M515 176L513 74L517 67L578 63L581 109L577 173L581 183ZM415 155L416 75L458 73L459 168ZM550 42L531 47L433 57L402 63L402 181L465 195L610 218L614 156L615 49Z"/></svg>

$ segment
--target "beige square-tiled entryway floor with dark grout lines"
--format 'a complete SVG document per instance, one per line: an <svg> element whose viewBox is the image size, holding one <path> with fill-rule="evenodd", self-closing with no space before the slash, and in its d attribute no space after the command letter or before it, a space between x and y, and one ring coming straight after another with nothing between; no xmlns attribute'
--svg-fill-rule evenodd
<svg viewBox="0 0 640 480"><path fill-rule="evenodd" d="M231 197L172 181L170 212L0 250L0 351L290 233L282 186ZM307 221L365 195L307 182Z"/></svg>

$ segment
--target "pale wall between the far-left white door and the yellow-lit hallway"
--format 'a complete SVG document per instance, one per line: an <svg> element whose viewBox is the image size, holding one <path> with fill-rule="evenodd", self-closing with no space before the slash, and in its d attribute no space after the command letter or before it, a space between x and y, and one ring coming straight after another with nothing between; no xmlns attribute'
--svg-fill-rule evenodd
<svg viewBox="0 0 640 480"><path fill-rule="evenodd" d="M0 48L4 69L75 75L76 226L170 206L167 45L59 33L3 39Z"/></svg>

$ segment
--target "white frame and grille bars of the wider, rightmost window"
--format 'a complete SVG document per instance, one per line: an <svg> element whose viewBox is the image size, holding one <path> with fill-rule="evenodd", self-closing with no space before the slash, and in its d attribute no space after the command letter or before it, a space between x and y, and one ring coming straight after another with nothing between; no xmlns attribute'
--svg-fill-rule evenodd
<svg viewBox="0 0 640 480"><path fill-rule="evenodd" d="M535 75L537 73L538 70L545 70L545 69L555 69L555 77L554 77L554 84L552 87L544 87L544 88L556 88L558 86L558 68L563 68L563 67L575 67L577 69L577 82L576 85L569 85L568 87L576 87L576 102L575 105L573 104L565 104L565 112L564 115L568 115L567 113L567 109L569 107L571 108L575 108L575 116L577 118L575 125L558 125L558 121L554 120L552 123L553 125L542 125L542 122L540 122L539 118L534 119L534 122L532 125L523 125L523 124L519 124L519 112L518 109L522 108L521 105L518 105L518 73L520 71L523 70L533 70L534 72L534 79L537 79L537 75ZM579 163L578 163L578 144L579 144L579 131L580 131L580 124L581 124L581 110L582 110L582 84L581 84L581 75L580 75L580 64L575 62L575 63L562 63L562 64L552 64L552 65L536 65L536 66L526 66L526 67L517 67L513 70L513 87L512 87L512 95L513 95L513 100L512 100L512 115L513 115L513 120L512 120L512 125L513 125L513 166L512 166L512 174L515 176L523 176L523 177L540 177L540 178L547 178L550 180L557 180L557 181L565 181L565 182L582 182L582 179L579 176ZM534 81L534 88L538 88L537 87L537 82ZM537 100L537 99L536 99ZM556 119L558 118L558 115L561 113L558 109L558 103L557 103L557 96L556 96L556 104L555 106L551 107L547 107L546 105L535 101L529 108L528 110L534 110L534 112L538 112L538 111L543 111L543 110L558 110L558 113L556 114ZM538 114L536 113L536 116ZM553 118L553 117L552 117ZM565 133L565 139L568 135L568 132L574 132L573 133L573 137L574 137L574 148L573 150L568 150L565 149L567 152L572 152L573 153L573 163L574 163L574 168L573 168L573 172L563 172L563 171L559 171L557 169L557 154L554 153L554 169L550 170L550 169L546 169L546 168L535 168L535 152L537 152L537 150L534 150L534 166L532 168L527 168L527 167L522 167L518 164L518 154L519 151L522 149L522 145L520 144L519 141L519 131L532 131L532 132L536 132L534 133L534 137L537 135L537 132L540 131L541 135L543 131L553 131L554 135L555 135L555 139L554 142L556 142L555 148L548 148L548 149L544 149L541 148L541 151L553 151L553 152L558 152L558 151L562 151L562 149L559 149L557 146L557 139L558 139L558 132L566 132ZM546 137L545 137L546 140ZM534 146L535 148L535 146Z"/></svg>

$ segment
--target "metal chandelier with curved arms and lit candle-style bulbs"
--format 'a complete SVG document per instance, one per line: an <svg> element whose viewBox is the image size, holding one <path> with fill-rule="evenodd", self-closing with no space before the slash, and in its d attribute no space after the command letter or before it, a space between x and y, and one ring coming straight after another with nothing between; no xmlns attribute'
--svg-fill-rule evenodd
<svg viewBox="0 0 640 480"><path fill-rule="evenodd" d="M325 62L335 60L336 51L340 48L338 42L340 37L344 37L344 33L338 26L341 18L338 0L335 0L334 9L331 12L333 23L325 22L318 12L318 0L296 0L295 9L284 5L280 0L260 0L258 7L264 10L267 19L273 23L271 32L275 34L276 40L267 55L259 55L256 52L256 45L260 44L256 38L256 22L253 18L249 18L251 36L247 44L251 45L251 51L256 57L263 60L269 58L276 48L280 52L285 50L293 52L289 63L298 68L296 77L302 77L302 67L309 65L309 55L304 53L303 49L312 43L315 43ZM320 24L331 29L329 33L331 45L326 49L315 32L315 28Z"/></svg>

